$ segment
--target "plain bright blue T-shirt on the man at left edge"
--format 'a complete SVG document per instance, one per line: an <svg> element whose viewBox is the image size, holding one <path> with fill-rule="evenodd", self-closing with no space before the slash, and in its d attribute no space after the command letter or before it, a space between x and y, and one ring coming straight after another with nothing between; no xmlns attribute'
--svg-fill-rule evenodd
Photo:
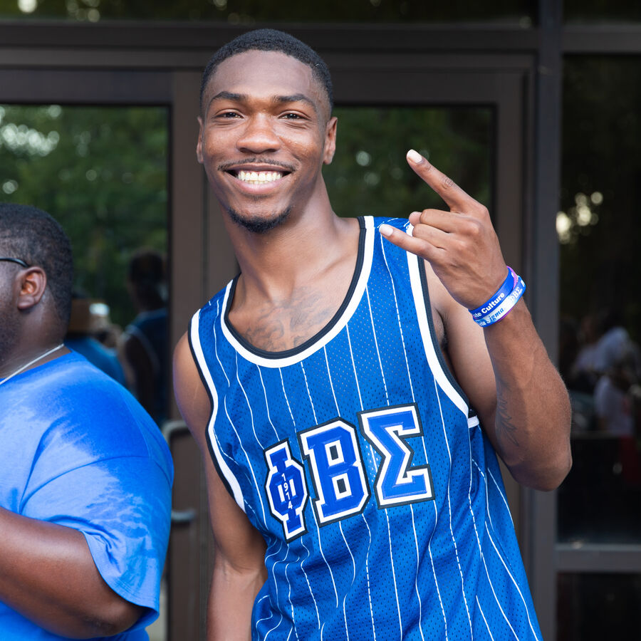
<svg viewBox="0 0 641 641"><path fill-rule="evenodd" d="M158 616L173 466L147 412L76 353L0 385L0 506L81 531L100 575L145 608L110 639L142 641ZM59 640L0 601L0 639Z"/></svg>

